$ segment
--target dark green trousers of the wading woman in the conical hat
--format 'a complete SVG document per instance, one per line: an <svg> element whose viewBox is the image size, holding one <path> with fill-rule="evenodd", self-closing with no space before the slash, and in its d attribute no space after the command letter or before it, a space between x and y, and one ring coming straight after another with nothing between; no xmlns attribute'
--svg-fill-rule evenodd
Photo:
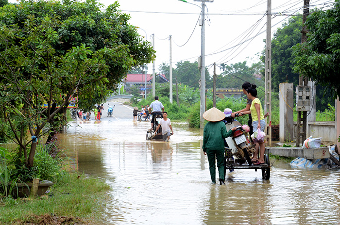
<svg viewBox="0 0 340 225"><path fill-rule="evenodd" d="M220 150L210 150L206 149L206 155L208 156L209 161L209 170L210 170L210 177L213 183L216 183L216 162L217 160L217 168L219 169L219 178L224 180L224 149Z"/></svg>

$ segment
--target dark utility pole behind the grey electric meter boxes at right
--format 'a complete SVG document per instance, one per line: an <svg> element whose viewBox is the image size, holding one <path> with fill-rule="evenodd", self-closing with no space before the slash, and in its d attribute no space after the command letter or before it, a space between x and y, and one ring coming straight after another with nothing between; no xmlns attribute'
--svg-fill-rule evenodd
<svg viewBox="0 0 340 225"><path fill-rule="evenodd" d="M303 27L302 27L302 36L301 36L301 43L306 42L307 40L307 28L306 28L306 20L307 16L309 15L309 0L304 0L304 15L303 15ZM299 85L307 86L308 79L303 75L300 74L299 77ZM301 118L302 115L302 118ZM302 121L302 132L301 132L301 121ZM300 143L302 143L306 139L306 132L307 132L307 111L298 111L297 123L296 123L296 147L300 147ZM302 138L302 140L301 140Z"/></svg>

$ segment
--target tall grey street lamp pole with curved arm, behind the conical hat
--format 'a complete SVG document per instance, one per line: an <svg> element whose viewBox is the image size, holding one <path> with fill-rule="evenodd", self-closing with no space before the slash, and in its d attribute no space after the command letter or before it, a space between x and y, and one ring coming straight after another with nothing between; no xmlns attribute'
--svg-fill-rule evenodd
<svg viewBox="0 0 340 225"><path fill-rule="evenodd" d="M186 0L179 0L183 2L187 2ZM204 128L204 118L203 113L205 112L205 23L204 23L204 7L205 2L213 2L213 0L195 0L195 1L201 1L202 2L202 8L196 4L192 4L190 2L187 2L192 5L196 5L200 7L201 9L201 18L202 18L202 28L201 28L201 105L200 105L200 128Z"/></svg>

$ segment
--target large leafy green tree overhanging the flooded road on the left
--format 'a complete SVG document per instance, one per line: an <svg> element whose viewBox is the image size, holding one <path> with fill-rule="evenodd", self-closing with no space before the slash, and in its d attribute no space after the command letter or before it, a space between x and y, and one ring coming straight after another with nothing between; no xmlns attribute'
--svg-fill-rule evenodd
<svg viewBox="0 0 340 225"><path fill-rule="evenodd" d="M154 59L118 2L102 7L95 0L36 0L0 8L0 116L13 135L0 132L19 145L27 167L37 138L65 123L73 97L83 99L80 107L94 105L132 67Z"/></svg>

